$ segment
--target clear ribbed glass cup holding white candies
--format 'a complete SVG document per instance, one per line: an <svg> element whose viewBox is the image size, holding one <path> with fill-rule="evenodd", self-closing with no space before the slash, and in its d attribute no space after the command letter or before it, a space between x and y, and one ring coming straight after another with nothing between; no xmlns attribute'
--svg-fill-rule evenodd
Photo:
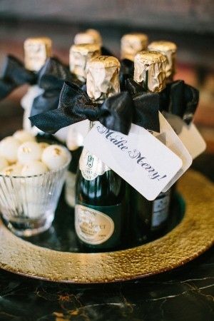
<svg viewBox="0 0 214 321"><path fill-rule="evenodd" d="M31 236L49 229L71 161L57 170L33 176L0 175L0 210L16 235Z"/></svg>

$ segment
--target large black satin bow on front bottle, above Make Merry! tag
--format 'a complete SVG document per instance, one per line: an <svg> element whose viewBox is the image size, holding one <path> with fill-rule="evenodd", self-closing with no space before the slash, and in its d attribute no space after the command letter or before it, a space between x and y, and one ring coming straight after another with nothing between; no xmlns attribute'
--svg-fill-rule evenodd
<svg viewBox="0 0 214 321"><path fill-rule="evenodd" d="M158 131L159 119L154 112L156 110L158 111L156 95L147 95L141 104L134 106L130 93L123 91L107 98L103 103L96 103L76 84L66 81L58 108L30 117L30 120L32 125L46 133L56 133L63 127L88 119L100 121L106 128L127 135L132 122Z"/></svg>

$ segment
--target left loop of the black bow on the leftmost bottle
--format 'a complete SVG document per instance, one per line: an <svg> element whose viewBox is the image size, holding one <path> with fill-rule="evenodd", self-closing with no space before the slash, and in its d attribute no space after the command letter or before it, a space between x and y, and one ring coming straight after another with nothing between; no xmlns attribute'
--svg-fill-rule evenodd
<svg viewBox="0 0 214 321"><path fill-rule="evenodd" d="M24 68L23 63L14 56L6 56L0 78L0 99L24 83L36 83L35 73Z"/></svg>

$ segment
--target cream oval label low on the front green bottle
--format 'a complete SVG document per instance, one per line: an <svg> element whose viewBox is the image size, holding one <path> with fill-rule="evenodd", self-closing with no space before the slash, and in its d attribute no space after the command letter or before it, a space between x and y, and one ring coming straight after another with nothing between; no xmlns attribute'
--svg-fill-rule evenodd
<svg viewBox="0 0 214 321"><path fill-rule="evenodd" d="M114 223L108 215L98 210L76 205L75 228L78 238L83 242L98 245L111 238Z"/></svg>

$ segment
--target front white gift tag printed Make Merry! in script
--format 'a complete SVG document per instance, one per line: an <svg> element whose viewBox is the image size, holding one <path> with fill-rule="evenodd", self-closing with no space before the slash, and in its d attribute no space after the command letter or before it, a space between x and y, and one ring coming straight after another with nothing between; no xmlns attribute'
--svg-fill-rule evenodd
<svg viewBox="0 0 214 321"><path fill-rule="evenodd" d="M84 146L148 200L154 200L182 167L175 153L134 124L126 136L97 122Z"/></svg>

